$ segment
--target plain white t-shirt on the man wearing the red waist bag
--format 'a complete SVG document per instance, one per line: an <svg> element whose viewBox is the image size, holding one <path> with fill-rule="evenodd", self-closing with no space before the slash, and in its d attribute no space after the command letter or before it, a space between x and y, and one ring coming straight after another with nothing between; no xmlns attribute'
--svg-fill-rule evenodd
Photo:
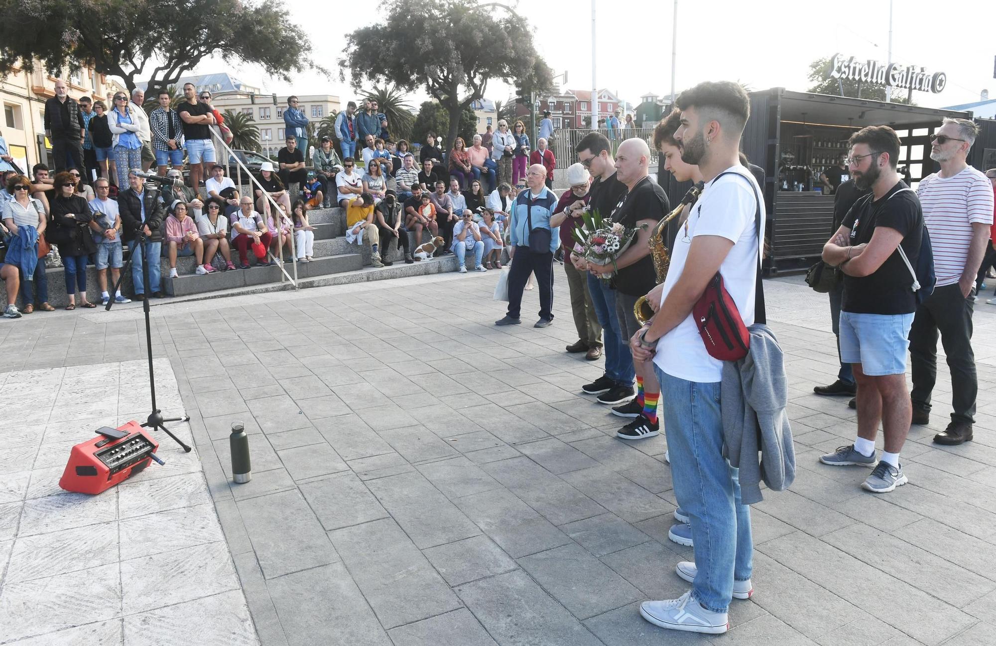
<svg viewBox="0 0 996 646"><path fill-rule="evenodd" d="M737 164L727 174L705 184L698 202L692 206L685 227L678 229L671 249L671 263L664 280L660 302L678 281L688 259L692 238L699 235L718 235L733 242L733 247L719 266L723 283L736 303L744 325L754 324L754 292L757 272L758 231L754 225L757 195L761 189L750 170ZM764 235L764 201L761 201L761 235ZM722 380L723 362L713 359L698 335L691 313L677 327L657 342L653 363L671 377L696 383L714 383Z"/></svg>

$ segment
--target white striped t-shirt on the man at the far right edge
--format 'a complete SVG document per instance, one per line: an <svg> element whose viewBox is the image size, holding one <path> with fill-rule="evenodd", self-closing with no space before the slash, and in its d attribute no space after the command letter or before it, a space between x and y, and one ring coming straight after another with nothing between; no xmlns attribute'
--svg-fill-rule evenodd
<svg viewBox="0 0 996 646"><path fill-rule="evenodd" d="M916 195L930 232L937 287L961 278L972 241L972 222L993 223L993 189L989 179L967 166L950 177L936 172L920 180Z"/></svg>

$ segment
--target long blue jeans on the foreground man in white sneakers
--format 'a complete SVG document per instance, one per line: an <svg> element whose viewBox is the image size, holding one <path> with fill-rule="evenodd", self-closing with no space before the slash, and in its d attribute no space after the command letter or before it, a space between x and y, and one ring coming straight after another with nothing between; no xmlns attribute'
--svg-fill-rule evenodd
<svg viewBox="0 0 996 646"><path fill-rule="evenodd" d="M656 365L664 432L678 506L688 514L698 574L691 595L726 612L733 581L750 578L754 558L750 507L740 501L739 471L723 457L719 382L671 377Z"/></svg>

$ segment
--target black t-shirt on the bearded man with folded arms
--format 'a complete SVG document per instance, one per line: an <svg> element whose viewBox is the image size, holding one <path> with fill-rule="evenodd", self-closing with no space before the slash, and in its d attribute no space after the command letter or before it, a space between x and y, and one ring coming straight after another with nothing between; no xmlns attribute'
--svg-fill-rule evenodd
<svg viewBox="0 0 996 646"><path fill-rule="evenodd" d="M878 226L895 229L902 234L899 244L909 264L915 268L923 233L920 200L912 190L903 190L889 199L905 187L906 184L899 181L880 199L874 199L873 195L859 199L844 218L843 225L851 229L852 245L870 241ZM910 314L916 309L912 284L909 269L898 250L893 251L869 276L844 275L842 309L855 314Z"/></svg>

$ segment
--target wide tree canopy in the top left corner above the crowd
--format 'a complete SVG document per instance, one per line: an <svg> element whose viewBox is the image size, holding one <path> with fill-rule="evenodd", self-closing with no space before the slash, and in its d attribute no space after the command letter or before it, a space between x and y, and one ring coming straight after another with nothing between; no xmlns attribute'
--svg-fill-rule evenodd
<svg viewBox="0 0 996 646"><path fill-rule="evenodd" d="M253 63L286 81L310 68L311 41L280 4L243 0L0 0L0 77L93 64L128 91L175 84L205 57Z"/></svg>

